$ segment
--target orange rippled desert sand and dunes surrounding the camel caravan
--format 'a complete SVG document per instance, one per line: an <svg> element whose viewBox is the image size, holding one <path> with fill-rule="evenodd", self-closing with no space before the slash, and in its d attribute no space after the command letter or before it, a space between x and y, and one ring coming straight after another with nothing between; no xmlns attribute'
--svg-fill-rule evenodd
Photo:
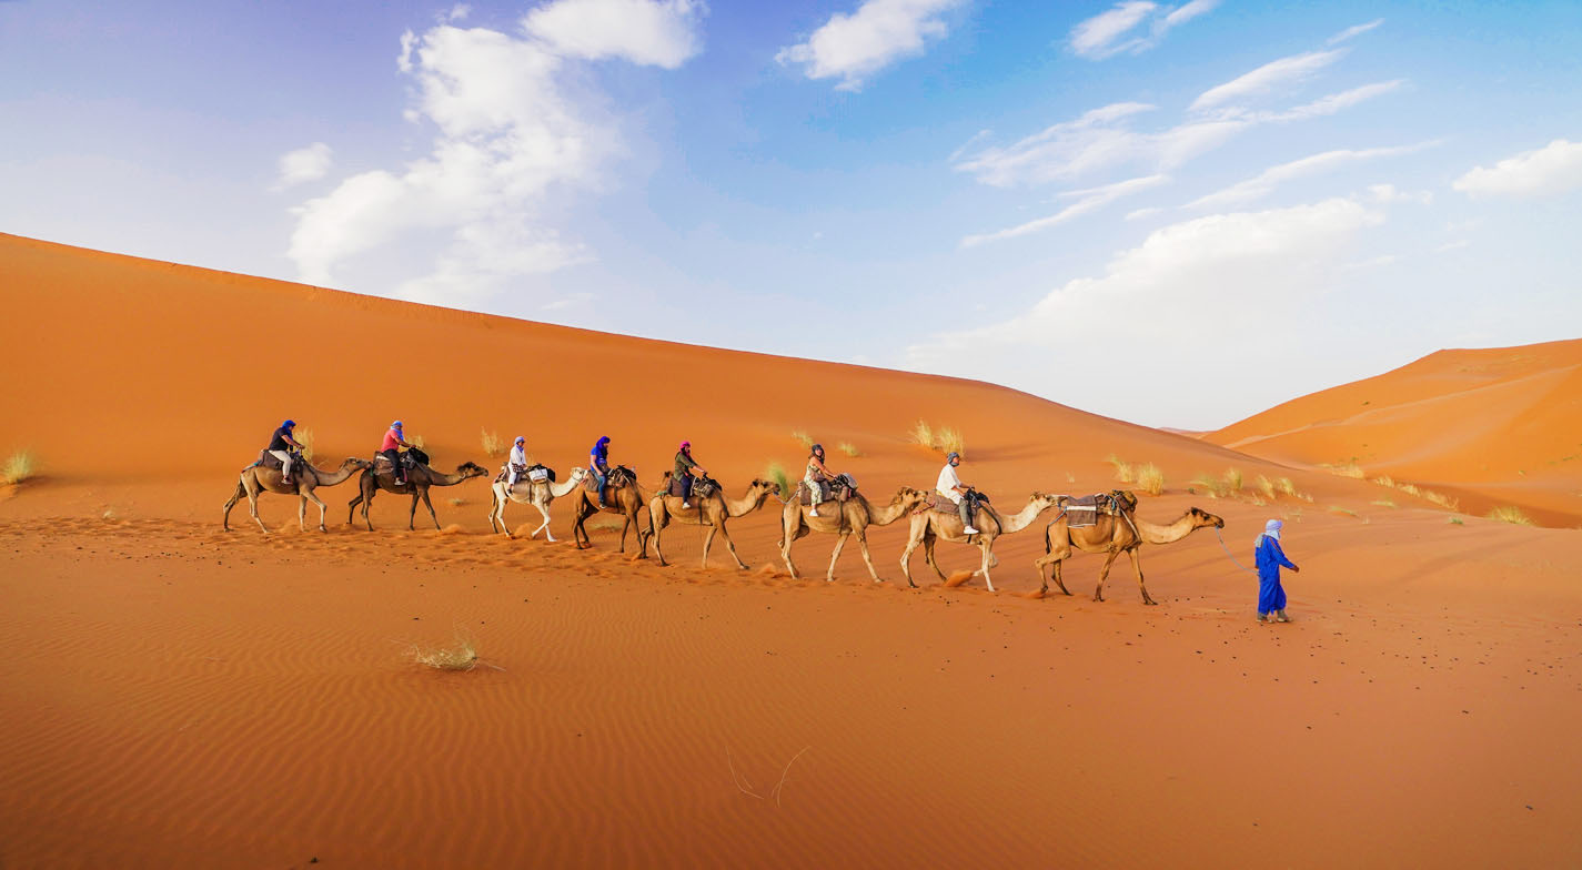
<svg viewBox="0 0 1582 870"><path fill-rule="evenodd" d="M0 266L0 457L38 463L0 490L3 867L1582 861L1579 343L1435 354L1196 438L14 236ZM793 582L775 501L729 524L750 571L718 549L702 569L696 528L666 533L669 568L633 562L607 516L592 550L490 535L487 479L435 490L440 530L419 509L407 531L389 494L377 531L348 525L348 482L320 490L327 533L278 495L269 535L245 501L221 531L285 416L320 467L392 418L443 470L498 465L481 430L562 475L611 435L647 487L690 438L732 492L799 470L807 432L875 500L932 486L940 456L908 438L927 419L963 432L963 479L1001 506L1125 486L1114 454L1164 475L1141 516L1218 514L1243 565L1285 517L1296 622L1253 623L1256 581L1212 530L1144 547L1158 607L1125 560L1092 601L1085 554L1074 596L1038 598L1043 522L997 547L997 595L949 544L952 582L916 558L908 588L900 524L870 531L888 582L854 546L824 582L823 535ZM1321 467L1353 457L1364 479ZM1242 490L1191 482L1228 470ZM1503 503L1549 528L1482 519ZM457 634L483 666L411 661Z"/></svg>

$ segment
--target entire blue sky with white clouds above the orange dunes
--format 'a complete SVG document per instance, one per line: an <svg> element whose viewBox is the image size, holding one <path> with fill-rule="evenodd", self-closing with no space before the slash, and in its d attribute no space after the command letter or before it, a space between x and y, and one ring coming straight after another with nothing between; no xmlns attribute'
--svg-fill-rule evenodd
<svg viewBox="0 0 1582 870"><path fill-rule="evenodd" d="M0 231L1217 429L1582 337L1579 93L1574 0L0 0Z"/></svg>

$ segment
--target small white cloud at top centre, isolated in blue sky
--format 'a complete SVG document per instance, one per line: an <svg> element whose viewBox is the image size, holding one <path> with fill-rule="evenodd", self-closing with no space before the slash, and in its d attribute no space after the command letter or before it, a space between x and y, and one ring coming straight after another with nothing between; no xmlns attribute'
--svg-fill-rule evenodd
<svg viewBox="0 0 1582 870"><path fill-rule="evenodd" d="M800 65L810 79L838 78L838 90L857 90L867 76L943 38L941 13L962 2L864 0L851 14L831 16L805 43L780 49L775 60Z"/></svg>

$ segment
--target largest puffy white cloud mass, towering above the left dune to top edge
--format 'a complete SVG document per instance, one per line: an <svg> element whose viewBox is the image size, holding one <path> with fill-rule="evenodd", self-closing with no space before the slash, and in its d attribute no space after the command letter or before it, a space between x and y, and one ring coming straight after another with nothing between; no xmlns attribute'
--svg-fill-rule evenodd
<svg viewBox="0 0 1582 870"><path fill-rule="evenodd" d="M595 108L603 96L568 84L566 57L669 66L696 51L691 3L638 9L631 2L622 5L631 13L622 35L603 41L579 30L607 9L603 0L535 9L546 36L535 35L532 14L524 36L443 24L403 35L397 66L416 84L407 117L433 125L432 150L396 171L351 176L293 209L288 256L301 278L331 283L348 261L380 250L388 253L381 261L413 266L383 275L396 293L481 301L513 277L589 259L547 225L541 202L557 188L595 187L622 146L615 123Z"/></svg>

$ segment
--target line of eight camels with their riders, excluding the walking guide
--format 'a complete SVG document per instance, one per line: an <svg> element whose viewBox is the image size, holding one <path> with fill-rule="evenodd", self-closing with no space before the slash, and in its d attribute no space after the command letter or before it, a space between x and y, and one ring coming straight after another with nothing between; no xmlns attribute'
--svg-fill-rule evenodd
<svg viewBox="0 0 1582 870"><path fill-rule="evenodd" d="M419 501L429 509L433 527L440 528L440 517L429 498L429 490L457 486L489 473L475 462L457 465L454 473L432 468L429 456L405 440L400 421L391 424L372 460L348 457L334 471L326 471L304 459L304 448L294 438L294 421L285 421L274 432L269 446L259 452L258 460L242 470L236 490L225 503L221 517L225 530L231 528L231 508L245 495L248 513L258 528L267 535L269 528L258 516L258 497L264 492L274 492L297 497L297 527L302 531L307 531L307 503L318 505L318 530L327 531L324 527L326 505L315 490L345 482L353 475L358 475L358 495L348 503L348 525L354 522L361 506L362 524L369 531L373 531L373 524L369 520L369 505L378 492L391 492L411 497L407 513L408 530L414 528ZM1199 528L1224 528L1223 519L1198 508L1190 508L1174 522L1152 524L1136 516L1137 498L1125 490L1085 497L1033 492L1016 513L1001 514L987 495L962 482L957 473L962 457L957 452L946 456L932 492L900 487L888 501L875 505L859 492L856 478L846 473L837 475L824 462L824 448L813 444L805 475L789 495L783 494L782 486L774 481L753 479L740 497L731 497L693 459L691 443L682 441L676 452L674 468L663 475L660 486L650 494L639 486L636 471L625 465L609 463L607 437L600 438L589 452L589 467L573 468L565 482L557 481L552 468L528 463L525 438L517 438L509 457L489 486L489 528L506 538L516 538L505 519L506 506L511 503L532 505L543 522L533 528L528 538L536 538L543 531L547 541L555 541L549 531L551 503L570 497L573 503L571 539L577 549L593 546L587 520L604 513L623 520L620 530L622 554L626 552L628 533L636 533L638 547L633 558L647 558L652 546L655 560L660 565L669 565L661 549L663 531L672 524L696 525L706 530L702 539L704 568L709 566L709 552L718 536L725 539L726 550L736 560L736 566L747 569L747 563L736 552L736 543L726 530L726 520L751 514L761 509L769 498L775 498L782 503L780 558L793 579L800 579L800 574L791 560L791 546L816 531L835 536L835 549L829 558L829 569L824 573L826 581L834 582L835 563L840 560L846 541L854 536L869 576L873 582L883 582L869 554L867 530L905 519L908 533L906 546L900 555L900 569L908 585L918 587L911 576L911 557L919 547L924 563L933 569L941 582L946 582L944 571L933 552L940 541L946 541L979 550L979 565L971 577L982 576L989 592L995 592L990 577L990 571L998 566L993 555L995 541L1003 535L1028 528L1046 513L1054 511L1052 519L1044 525L1044 555L1033 563L1039 576L1038 595L1049 592L1050 579L1062 595L1071 595L1060 576L1060 566L1073 552L1082 550L1104 555L1098 585L1093 590L1093 601L1103 601L1109 569L1120 554L1126 554L1137 576L1137 590L1142 593L1144 604L1156 604L1156 601L1149 595L1149 587L1142 579L1139 557L1142 544L1171 544Z"/></svg>

